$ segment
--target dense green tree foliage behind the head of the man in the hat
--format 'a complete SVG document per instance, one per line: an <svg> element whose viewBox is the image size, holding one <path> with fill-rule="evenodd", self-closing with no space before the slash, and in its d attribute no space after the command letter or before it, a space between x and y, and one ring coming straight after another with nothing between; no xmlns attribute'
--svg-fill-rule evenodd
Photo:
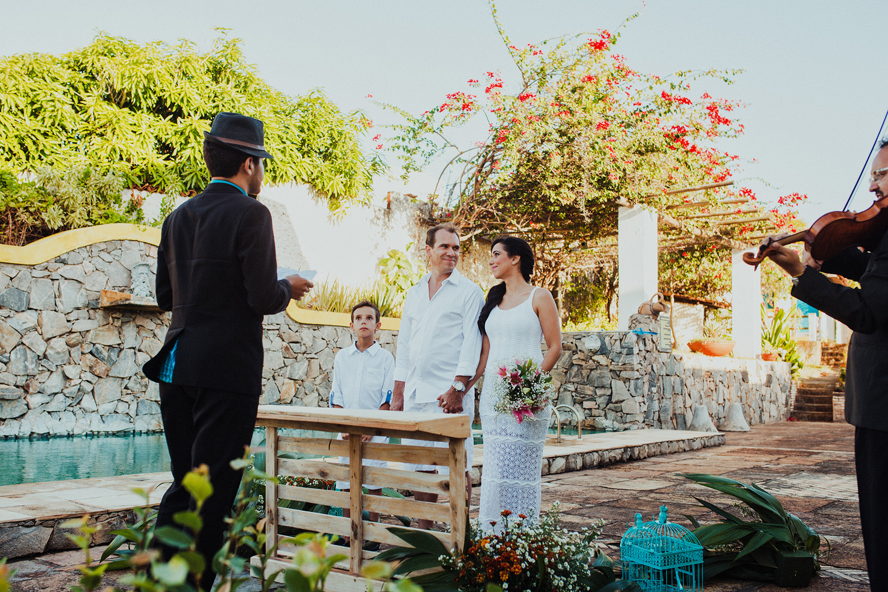
<svg viewBox="0 0 888 592"><path fill-rule="evenodd" d="M209 180L202 132L220 111L265 122L275 156L266 183L312 185L330 209L366 201L385 170L361 152L372 125L363 114L342 113L319 91L291 98L274 90L246 63L241 41L224 35L204 53L188 41L101 34L61 56L0 58L0 81L0 154L16 173L86 158L126 187L199 191Z"/></svg>

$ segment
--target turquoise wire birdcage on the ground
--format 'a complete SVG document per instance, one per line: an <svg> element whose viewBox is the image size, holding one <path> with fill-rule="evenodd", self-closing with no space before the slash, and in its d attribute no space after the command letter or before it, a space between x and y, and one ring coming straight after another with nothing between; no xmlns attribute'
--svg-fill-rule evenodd
<svg viewBox="0 0 888 592"><path fill-rule="evenodd" d="M620 558L622 579L646 592L702 592L702 545L684 526L666 520L666 506L644 524L635 515L635 525L622 535Z"/></svg>

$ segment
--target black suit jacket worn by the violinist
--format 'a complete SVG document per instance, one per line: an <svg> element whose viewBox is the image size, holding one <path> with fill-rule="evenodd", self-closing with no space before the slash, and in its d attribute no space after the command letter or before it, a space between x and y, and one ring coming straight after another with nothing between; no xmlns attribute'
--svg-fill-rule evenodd
<svg viewBox="0 0 888 592"><path fill-rule="evenodd" d="M845 419L860 428L888 431L888 233L871 253L845 249L822 271L860 282L846 288L811 267L792 295L853 330L845 371Z"/></svg>

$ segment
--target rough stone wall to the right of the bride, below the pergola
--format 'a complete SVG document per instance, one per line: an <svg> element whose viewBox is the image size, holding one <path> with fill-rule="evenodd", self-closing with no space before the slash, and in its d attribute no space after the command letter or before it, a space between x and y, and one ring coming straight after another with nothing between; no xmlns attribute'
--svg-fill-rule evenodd
<svg viewBox="0 0 888 592"><path fill-rule="evenodd" d="M574 407L587 427L685 430L701 404L718 426L734 401L750 425L789 414L788 363L663 353L653 317L633 315L630 328L635 330L564 334L564 353L551 373L559 384L558 404ZM575 424L570 414L562 415Z"/></svg>

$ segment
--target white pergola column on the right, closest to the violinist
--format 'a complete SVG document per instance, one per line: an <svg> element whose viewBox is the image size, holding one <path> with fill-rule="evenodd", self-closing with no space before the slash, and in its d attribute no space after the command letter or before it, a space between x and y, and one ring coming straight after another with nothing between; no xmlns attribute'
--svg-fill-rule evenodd
<svg viewBox="0 0 888 592"><path fill-rule="evenodd" d="M755 358L762 352L762 280L743 253L757 249L731 249L731 335L738 358Z"/></svg>

